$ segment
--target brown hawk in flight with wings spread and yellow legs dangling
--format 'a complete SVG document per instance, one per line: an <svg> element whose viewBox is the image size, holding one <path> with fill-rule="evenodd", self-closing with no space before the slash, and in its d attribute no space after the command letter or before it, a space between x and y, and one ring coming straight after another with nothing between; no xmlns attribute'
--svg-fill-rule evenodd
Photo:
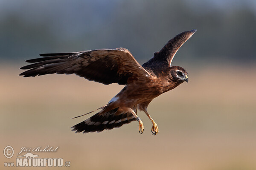
<svg viewBox="0 0 256 170"><path fill-rule="evenodd" d="M76 133L101 132L137 120L139 132L143 133L143 122L137 116L139 109L151 120L153 124L151 132L156 135L158 127L148 114L148 104L160 94L172 90L184 81L188 82L188 73L185 69L171 66L171 63L178 49L195 31L193 29L178 34L143 65L140 65L125 48L40 54L42 58L26 61L33 64L22 67L21 69L28 70L20 76L76 74L105 85L111 83L125 85L107 105L99 108L101 110L98 113L71 128Z"/></svg>

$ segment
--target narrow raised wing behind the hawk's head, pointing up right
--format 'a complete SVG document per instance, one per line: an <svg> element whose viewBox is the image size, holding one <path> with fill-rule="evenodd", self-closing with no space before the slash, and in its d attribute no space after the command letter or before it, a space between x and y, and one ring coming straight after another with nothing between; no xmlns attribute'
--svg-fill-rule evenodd
<svg viewBox="0 0 256 170"><path fill-rule="evenodd" d="M154 65L154 63L157 63L158 65L165 64L171 66L172 59L175 56L176 52L179 50L181 45L184 44L184 42L192 37L195 31L196 29L193 29L191 31L185 31L176 35L174 38L169 40L160 51L155 52L154 57L151 58L148 62L144 63L142 66L151 67Z"/></svg>

